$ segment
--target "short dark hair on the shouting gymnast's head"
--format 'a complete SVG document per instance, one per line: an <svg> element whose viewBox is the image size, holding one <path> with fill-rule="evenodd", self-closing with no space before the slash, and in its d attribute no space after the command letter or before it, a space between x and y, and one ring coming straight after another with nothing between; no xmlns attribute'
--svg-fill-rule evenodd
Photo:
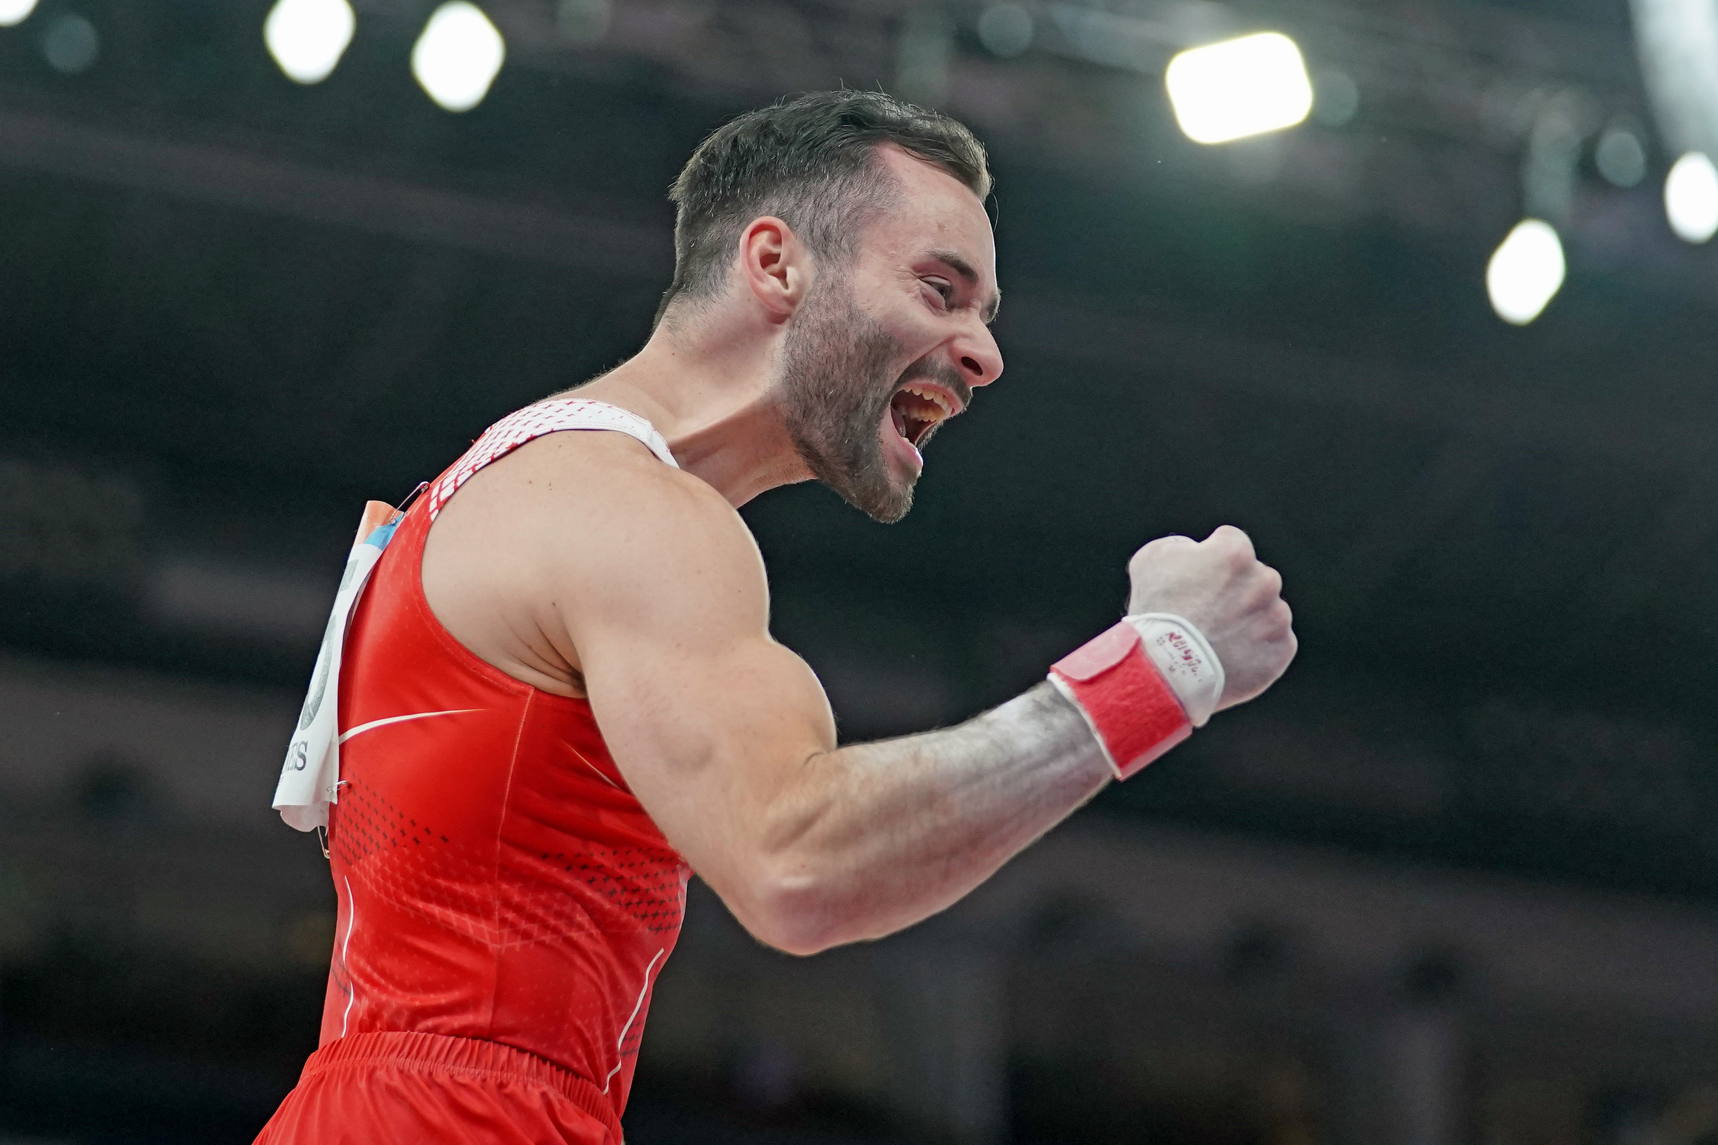
<svg viewBox="0 0 1718 1145"><path fill-rule="evenodd" d="M990 194L990 165L967 127L881 91L816 91L747 112L698 144L668 199L675 206L673 282L656 321L680 295L708 297L727 278L740 230L775 215L819 257L852 252L869 211L888 203L880 144L897 144Z"/></svg>

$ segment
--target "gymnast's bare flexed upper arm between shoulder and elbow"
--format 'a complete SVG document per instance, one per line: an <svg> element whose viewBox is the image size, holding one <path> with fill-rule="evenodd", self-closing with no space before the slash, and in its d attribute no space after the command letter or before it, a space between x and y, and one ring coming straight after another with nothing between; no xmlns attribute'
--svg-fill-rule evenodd
<svg viewBox="0 0 1718 1145"><path fill-rule="evenodd" d="M663 836L740 922L766 932L795 779L835 747L828 699L770 637L763 561L725 501L677 474L618 498L612 517L567 532L581 542L569 542L557 594L591 709Z"/></svg>

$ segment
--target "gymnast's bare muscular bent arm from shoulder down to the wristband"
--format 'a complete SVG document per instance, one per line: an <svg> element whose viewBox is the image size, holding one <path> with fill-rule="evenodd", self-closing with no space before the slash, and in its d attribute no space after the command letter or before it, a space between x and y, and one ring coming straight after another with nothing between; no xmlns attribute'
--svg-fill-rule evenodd
<svg viewBox="0 0 1718 1145"><path fill-rule="evenodd" d="M1048 685L837 748L816 676L768 633L763 563L727 503L661 467L610 493L550 530L569 539L545 565L557 616L627 783L761 941L813 953L911 925L1108 781Z"/></svg>

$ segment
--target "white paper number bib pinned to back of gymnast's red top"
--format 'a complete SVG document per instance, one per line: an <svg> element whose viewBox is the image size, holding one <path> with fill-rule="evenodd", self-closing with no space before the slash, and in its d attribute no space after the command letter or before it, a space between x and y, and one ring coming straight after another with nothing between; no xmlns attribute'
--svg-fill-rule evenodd
<svg viewBox="0 0 1718 1145"><path fill-rule="evenodd" d="M275 810L289 827L314 831L328 826L328 803L340 802L340 652L345 647L345 625L352 618L369 572L381 560L381 551L393 539L399 513L392 505L371 501L364 506L359 541L345 558L345 573L333 596L333 611L323 630L321 651L316 652L316 669L311 688L299 712L299 726L287 745L287 762L275 786Z"/></svg>

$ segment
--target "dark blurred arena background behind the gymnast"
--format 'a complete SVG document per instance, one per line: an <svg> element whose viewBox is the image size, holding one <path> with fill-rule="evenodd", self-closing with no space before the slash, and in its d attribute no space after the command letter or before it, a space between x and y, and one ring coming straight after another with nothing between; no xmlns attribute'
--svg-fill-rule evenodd
<svg viewBox="0 0 1718 1145"><path fill-rule="evenodd" d="M641 345L691 148L838 82L991 148L1008 360L904 524L746 510L844 738L1223 522L1302 652L893 939L694 886L629 1142L1718 1142L1718 251L1625 0L493 0L466 112L431 3L354 7L295 82L263 0L0 3L0 1142L251 1140L316 1044L268 802L364 500ZM1311 118L1191 142L1165 60L1259 27ZM1567 280L1514 326L1526 215Z"/></svg>

